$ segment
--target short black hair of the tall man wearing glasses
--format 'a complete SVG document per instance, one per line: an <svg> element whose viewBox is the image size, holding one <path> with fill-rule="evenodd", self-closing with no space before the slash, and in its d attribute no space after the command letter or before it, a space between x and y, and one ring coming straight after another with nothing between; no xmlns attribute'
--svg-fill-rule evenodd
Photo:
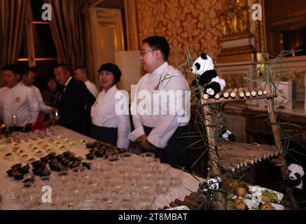
<svg viewBox="0 0 306 224"><path fill-rule="evenodd" d="M157 35L148 36L142 41L142 43L148 43L152 50L160 50L160 52L162 52L163 59L167 62L170 53L170 47L165 37Z"/></svg>

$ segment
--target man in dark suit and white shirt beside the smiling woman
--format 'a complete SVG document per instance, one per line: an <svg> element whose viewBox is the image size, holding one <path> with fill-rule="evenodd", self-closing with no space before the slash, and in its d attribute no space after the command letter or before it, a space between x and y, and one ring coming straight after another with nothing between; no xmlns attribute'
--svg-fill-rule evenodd
<svg viewBox="0 0 306 224"><path fill-rule="evenodd" d="M57 83L62 85L60 94L60 125L88 135L90 109L95 97L86 85L71 77L67 64L57 64L54 69Z"/></svg>

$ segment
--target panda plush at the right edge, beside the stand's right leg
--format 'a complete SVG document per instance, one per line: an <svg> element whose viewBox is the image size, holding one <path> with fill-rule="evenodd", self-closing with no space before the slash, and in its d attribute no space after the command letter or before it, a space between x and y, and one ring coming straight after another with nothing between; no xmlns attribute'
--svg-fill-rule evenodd
<svg viewBox="0 0 306 224"><path fill-rule="evenodd" d="M299 197L302 191L302 176L305 175L304 169L297 164L292 163L287 168L289 179L286 179L286 186L293 187L293 195Z"/></svg>

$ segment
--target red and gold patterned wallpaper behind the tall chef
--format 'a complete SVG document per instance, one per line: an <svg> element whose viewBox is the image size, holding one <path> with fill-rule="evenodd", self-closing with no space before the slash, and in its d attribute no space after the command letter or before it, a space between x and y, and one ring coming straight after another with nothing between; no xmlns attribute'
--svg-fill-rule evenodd
<svg viewBox="0 0 306 224"><path fill-rule="evenodd" d="M189 48L197 57L202 51L216 59L221 51L221 11L219 0L137 0L139 39L165 36L171 52L169 62L179 66L186 62L181 48ZM183 71L184 70L184 71ZM190 80L192 74L181 69Z"/></svg>

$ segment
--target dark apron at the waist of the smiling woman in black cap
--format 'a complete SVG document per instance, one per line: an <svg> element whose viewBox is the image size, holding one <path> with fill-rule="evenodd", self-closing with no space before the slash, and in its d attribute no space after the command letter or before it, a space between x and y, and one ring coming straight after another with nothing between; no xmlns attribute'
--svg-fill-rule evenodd
<svg viewBox="0 0 306 224"><path fill-rule="evenodd" d="M104 141L113 146L117 145L117 135L118 128L115 127L99 127L93 124L90 127L90 137L92 137L92 139Z"/></svg>

